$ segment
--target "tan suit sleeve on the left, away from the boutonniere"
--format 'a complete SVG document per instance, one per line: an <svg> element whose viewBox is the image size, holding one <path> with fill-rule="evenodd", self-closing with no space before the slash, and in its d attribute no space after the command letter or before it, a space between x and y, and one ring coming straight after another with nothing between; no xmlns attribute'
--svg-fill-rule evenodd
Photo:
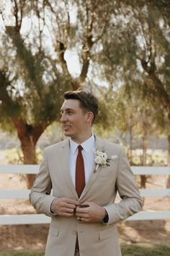
<svg viewBox="0 0 170 256"><path fill-rule="evenodd" d="M48 170L48 160L44 150L40 171L30 192L30 202L36 210L40 210L40 212L47 216L50 216L50 204L55 199L55 197L50 195L51 189L52 184Z"/></svg>

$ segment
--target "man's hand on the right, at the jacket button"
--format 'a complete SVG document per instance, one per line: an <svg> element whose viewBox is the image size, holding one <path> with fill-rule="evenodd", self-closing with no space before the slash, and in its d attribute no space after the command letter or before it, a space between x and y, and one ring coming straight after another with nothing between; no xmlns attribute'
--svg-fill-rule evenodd
<svg viewBox="0 0 170 256"><path fill-rule="evenodd" d="M76 208L76 217L84 222L102 221L107 211L95 202L86 201Z"/></svg>

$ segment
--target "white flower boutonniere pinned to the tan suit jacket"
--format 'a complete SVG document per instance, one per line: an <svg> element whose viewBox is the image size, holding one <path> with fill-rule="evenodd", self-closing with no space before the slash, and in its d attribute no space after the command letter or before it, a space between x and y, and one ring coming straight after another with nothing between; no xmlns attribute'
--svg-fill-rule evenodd
<svg viewBox="0 0 170 256"><path fill-rule="evenodd" d="M109 166L110 159L107 157L107 153L105 152L104 149L102 150L96 149L94 153L95 153L94 162L97 164L96 168L94 169L94 173L95 173L97 172L99 166L102 166L102 167Z"/></svg>

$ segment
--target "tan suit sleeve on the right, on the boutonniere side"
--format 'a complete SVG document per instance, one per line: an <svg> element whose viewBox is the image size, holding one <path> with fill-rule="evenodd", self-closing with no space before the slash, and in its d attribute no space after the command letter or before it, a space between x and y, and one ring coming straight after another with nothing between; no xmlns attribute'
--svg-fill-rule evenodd
<svg viewBox="0 0 170 256"><path fill-rule="evenodd" d="M107 225L133 216L133 214L138 213L143 205L138 187L135 184L135 176L123 148L119 155L116 187L122 200L119 203L104 206L109 215Z"/></svg>

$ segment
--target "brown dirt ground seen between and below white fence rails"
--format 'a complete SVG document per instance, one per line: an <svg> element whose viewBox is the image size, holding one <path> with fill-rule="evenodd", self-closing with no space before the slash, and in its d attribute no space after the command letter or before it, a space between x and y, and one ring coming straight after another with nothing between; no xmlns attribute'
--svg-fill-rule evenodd
<svg viewBox="0 0 170 256"><path fill-rule="evenodd" d="M147 187L165 187L166 176L149 178ZM0 174L0 189L26 189L19 174ZM143 210L170 210L169 197L146 197ZM1 214L35 213L28 200L0 200ZM170 219L158 221L122 221L117 224L121 243L170 242ZM8 249L44 249L49 224L0 226L0 251Z"/></svg>

